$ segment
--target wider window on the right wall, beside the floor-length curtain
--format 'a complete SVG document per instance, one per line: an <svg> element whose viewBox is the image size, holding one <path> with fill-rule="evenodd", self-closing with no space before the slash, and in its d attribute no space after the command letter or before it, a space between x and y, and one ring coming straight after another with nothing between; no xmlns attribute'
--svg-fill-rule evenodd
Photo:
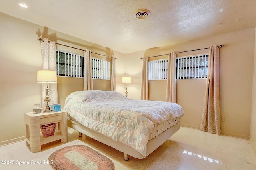
<svg viewBox="0 0 256 170"><path fill-rule="evenodd" d="M177 58L177 79L207 78L209 55Z"/></svg>

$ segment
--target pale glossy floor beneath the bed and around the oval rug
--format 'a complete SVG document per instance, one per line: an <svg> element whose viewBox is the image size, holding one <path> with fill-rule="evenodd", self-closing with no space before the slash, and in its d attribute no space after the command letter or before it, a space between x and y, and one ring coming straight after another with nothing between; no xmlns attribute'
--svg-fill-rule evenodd
<svg viewBox="0 0 256 170"><path fill-rule="evenodd" d="M44 161L50 154L66 146L83 144L97 150L114 162L116 170L256 170L256 153L249 140L210 134L200 130L180 127L169 140L148 157L136 159L88 136L78 139L78 132L68 129L68 143L59 140L42 146L42 151L32 153L25 141L0 147L0 160ZM80 141L81 140L81 141ZM52 169L48 164L0 165L1 170Z"/></svg>

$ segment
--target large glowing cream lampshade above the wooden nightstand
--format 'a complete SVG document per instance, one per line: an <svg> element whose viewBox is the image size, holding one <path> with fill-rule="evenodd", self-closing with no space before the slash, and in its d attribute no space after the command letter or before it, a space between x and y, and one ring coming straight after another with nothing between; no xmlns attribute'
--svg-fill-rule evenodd
<svg viewBox="0 0 256 170"><path fill-rule="evenodd" d="M57 83L56 71L52 70L38 70L37 71L38 83Z"/></svg>

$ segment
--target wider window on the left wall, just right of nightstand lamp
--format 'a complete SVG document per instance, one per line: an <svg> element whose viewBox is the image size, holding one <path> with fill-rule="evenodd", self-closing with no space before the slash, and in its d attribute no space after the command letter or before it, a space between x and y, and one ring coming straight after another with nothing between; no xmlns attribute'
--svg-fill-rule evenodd
<svg viewBox="0 0 256 170"><path fill-rule="evenodd" d="M56 50L57 75L84 77L84 56Z"/></svg>

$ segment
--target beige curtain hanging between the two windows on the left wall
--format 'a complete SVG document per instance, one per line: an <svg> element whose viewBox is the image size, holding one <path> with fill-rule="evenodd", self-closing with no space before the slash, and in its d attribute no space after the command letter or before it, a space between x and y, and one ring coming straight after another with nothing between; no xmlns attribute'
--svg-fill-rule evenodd
<svg viewBox="0 0 256 170"><path fill-rule="evenodd" d="M84 51L84 90L93 90L92 85L92 51Z"/></svg>

